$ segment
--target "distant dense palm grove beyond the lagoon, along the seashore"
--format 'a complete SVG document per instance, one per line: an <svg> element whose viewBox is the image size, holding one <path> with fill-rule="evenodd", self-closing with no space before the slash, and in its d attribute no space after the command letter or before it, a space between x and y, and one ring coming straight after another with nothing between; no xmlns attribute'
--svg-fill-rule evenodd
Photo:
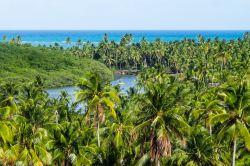
<svg viewBox="0 0 250 166"><path fill-rule="evenodd" d="M249 63L249 33L245 33L242 39L231 41L205 39L201 35L198 40L166 42L156 39L148 42L142 38L139 43L132 41L133 36L129 34L124 35L119 43L109 41L105 35L97 45L79 40L77 46L67 50L77 57L97 59L116 69L142 69L158 64L174 73L210 69L206 74L211 75L215 70L245 67ZM70 38L66 43L72 44Z"/></svg>

